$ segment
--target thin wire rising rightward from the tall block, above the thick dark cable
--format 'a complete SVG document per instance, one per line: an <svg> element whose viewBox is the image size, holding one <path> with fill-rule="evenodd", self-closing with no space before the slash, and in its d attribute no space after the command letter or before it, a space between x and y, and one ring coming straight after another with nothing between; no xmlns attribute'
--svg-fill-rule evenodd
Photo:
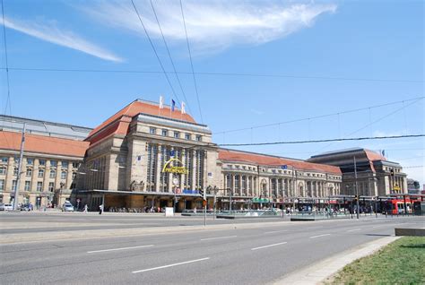
<svg viewBox="0 0 425 285"><path fill-rule="evenodd" d="M316 116L316 117L303 117L303 118L289 120L289 121L283 121L283 122L279 122L279 123L271 123L271 124L266 124L266 125L249 126L249 127L244 127L244 128L239 128L239 129L233 129L233 130L228 130L228 131L221 131L221 132L217 132L217 133L213 133L213 134L229 134L229 133L235 133L235 132L240 132L240 131L253 130L253 129L263 128L263 127L268 127L268 126L273 126L273 125L284 125L284 124L290 124L290 123L297 123L297 122L302 122L302 121L308 121L308 120L317 119L317 118L323 118L323 117L340 116L340 115L343 115L343 114L355 113L355 112L359 112L359 111L366 110L366 109L381 108L381 107L391 106L391 105L400 104L400 103L403 103L403 102L410 102L410 101L413 101L413 100L419 100L419 99L424 99L424 98L425 97L422 96L422 97L417 97L417 98L413 98L413 99L406 99L406 100L400 100L400 101L395 101L395 102L390 102L390 103L385 103L385 104L379 104L379 105L369 106L369 107L366 107L366 108L355 108L355 109L345 110L345 111L342 111L342 112L336 112L336 113L331 113L331 114L319 115L319 116Z"/></svg>

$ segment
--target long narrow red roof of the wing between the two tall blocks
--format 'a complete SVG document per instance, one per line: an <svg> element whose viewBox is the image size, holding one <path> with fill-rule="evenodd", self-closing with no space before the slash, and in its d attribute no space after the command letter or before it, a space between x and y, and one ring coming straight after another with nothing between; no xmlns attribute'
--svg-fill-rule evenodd
<svg viewBox="0 0 425 285"><path fill-rule="evenodd" d="M342 174L340 168L330 166L330 165L311 163L311 162L306 162L301 160L283 159L279 157L268 156L265 154L256 154L256 153L249 153L244 151L233 151L233 150L221 149L219 150L219 159L255 163L255 164L264 165L264 166L288 165L296 169L314 170L314 171L321 171L321 172L334 173L334 174L340 174L340 175Z"/></svg>

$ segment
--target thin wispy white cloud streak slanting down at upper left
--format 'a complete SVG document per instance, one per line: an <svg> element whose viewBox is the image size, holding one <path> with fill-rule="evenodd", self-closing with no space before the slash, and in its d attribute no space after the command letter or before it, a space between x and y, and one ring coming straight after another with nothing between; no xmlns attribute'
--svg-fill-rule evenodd
<svg viewBox="0 0 425 285"><path fill-rule="evenodd" d="M108 52L108 50L100 48L85 39L82 39L70 30L58 29L55 22L23 22L5 18L4 25L7 28L19 30L34 38L46 40L65 48L73 48L91 56L96 56L101 59L114 62L123 61L122 58L113 55Z"/></svg>

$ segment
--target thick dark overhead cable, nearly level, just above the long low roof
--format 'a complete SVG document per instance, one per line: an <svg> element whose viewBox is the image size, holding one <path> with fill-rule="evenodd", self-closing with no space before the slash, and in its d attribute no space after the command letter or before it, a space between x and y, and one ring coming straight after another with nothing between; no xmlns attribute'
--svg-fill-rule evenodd
<svg viewBox="0 0 425 285"><path fill-rule="evenodd" d="M384 139L401 139L412 137L423 137L425 134L407 134L407 135L388 135L388 136L366 136L355 138L339 138L325 140L308 140L308 141L288 141L288 142L255 142L255 143L222 143L219 146L257 146L257 145L273 145L273 144L296 144L296 143L317 143L317 142L344 142L344 141L366 141L366 140L384 140Z"/></svg>

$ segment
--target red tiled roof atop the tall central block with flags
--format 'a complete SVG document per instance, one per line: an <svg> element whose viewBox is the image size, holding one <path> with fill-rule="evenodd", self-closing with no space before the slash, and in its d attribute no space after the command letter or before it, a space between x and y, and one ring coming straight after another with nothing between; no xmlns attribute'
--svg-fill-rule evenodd
<svg viewBox="0 0 425 285"><path fill-rule="evenodd" d="M160 106L157 104L135 100L93 129L86 138L86 141L90 141L91 143L99 142L109 134L126 134L131 118L140 113L195 123L193 117L188 114L181 114L177 108L174 112L171 112L168 106L160 109Z"/></svg>

